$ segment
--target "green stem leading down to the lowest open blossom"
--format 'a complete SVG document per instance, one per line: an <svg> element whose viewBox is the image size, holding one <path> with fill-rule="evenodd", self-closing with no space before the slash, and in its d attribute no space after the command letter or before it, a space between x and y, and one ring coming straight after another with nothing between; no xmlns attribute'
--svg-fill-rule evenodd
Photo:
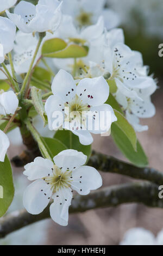
<svg viewBox="0 0 163 256"><path fill-rule="evenodd" d="M43 156L49 160L51 159L51 156L49 155L45 145L43 144L42 140L41 140L41 136L39 134L39 132L37 132L37 130L35 129L35 127L30 123L29 119L25 120L25 123L27 125L27 129L32 133L34 139L36 140L36 142L39 145L39 148L41 150L41 153L43 153Z"/></svg>

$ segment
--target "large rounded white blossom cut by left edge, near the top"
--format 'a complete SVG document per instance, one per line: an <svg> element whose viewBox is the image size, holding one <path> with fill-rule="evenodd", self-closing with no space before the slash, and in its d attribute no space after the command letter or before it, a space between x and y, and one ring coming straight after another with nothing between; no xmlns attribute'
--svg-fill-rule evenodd
<svg viewBox="0 0 163 256"><path fill-rule="evenodd" d="M9 53L14 47L16 36L16 26L12 21L0 16L0 63L4 62L5 54Z"/></svg>

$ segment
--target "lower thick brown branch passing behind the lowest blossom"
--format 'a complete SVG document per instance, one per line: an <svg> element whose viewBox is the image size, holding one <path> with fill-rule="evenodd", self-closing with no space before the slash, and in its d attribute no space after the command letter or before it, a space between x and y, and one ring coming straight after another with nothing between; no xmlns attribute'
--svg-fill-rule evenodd
<svg viewBox="0 0 163 256"><path fill-rule="evenodd" d="M150 182L135 182L120 186L104 187L87 196L77 195L72 200L70 214L91 209L114 207L123 203L142 203L150 207L163 208L163 200L158 197L158 186ZM49 207L40 215L30 215L26 210L12 212L1 218L0 237L49 217Z"/></svg>

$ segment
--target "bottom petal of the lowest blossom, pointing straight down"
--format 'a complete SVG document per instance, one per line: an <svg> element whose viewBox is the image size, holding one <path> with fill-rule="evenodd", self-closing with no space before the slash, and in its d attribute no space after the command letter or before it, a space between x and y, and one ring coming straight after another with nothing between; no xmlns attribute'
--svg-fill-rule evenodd
<svg viewBox="0 0 163 256"><path fill-rule="evenodd" d="M58 224L66 226L68 224L68 208L72 200L70 188L62 188L52 198L54 202L50 206L51 218Z"/></svg>

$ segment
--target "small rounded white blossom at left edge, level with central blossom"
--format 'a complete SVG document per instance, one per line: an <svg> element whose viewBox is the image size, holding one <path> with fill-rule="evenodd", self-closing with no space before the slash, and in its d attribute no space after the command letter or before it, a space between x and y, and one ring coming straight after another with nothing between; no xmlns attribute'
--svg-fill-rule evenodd
<svg viewBox="0 0 163 256"><path fill-rule="evenodd" d="M0 91L0 115L14 114L18 107L18 99L14 92Z"/></svg>

